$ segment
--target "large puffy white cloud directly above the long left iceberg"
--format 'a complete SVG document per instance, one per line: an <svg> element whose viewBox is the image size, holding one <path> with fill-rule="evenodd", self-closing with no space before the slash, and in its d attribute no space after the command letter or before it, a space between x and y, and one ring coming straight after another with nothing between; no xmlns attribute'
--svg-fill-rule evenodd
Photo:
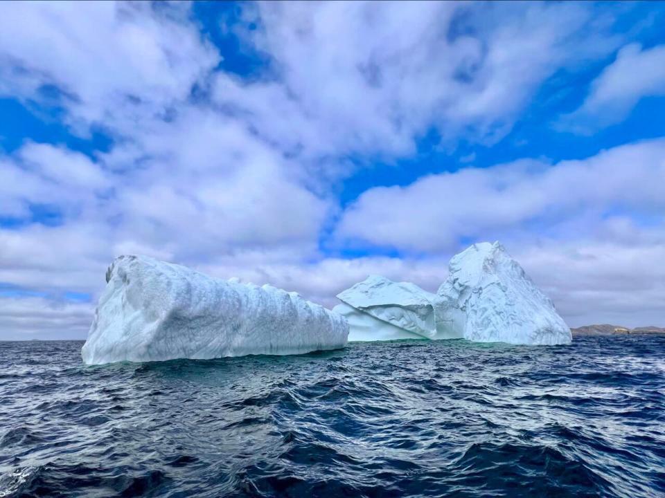
<svg viewBox="0 0 665 498"><path fill-rule="evenodd" d="M136 155L121 149L90 160L30 143L6 158L0 176L15 183L5 191L11 211L3 204L2 214L28 216L30 206L46 203L62 214L62 223L0 229L0 282L43 286L32 277L25 282L17 268L31 261L40 270L57 270L57 261L88 258L107 264L128 250L186 264L257 249L287 261L311 257L321 225L335 210L332 202L290 174L289 160L223 116L215 118L218 140L227 137L235 146L220 147L219 154L186 140L189 124L206 120L204 111L178 119L162 135L166 140L141 142L145 159L133 169L125 169L124 160L136 163ZM70 174L72 167L80 176ZM52 281L64 285L67 279Z"/></svg>

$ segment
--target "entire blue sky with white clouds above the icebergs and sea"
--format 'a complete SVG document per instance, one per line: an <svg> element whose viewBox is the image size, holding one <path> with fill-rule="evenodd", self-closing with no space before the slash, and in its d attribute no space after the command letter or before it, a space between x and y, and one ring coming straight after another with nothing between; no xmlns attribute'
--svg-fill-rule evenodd
<svg viewBox="0 0 665 498"><path fill-rule="evenodd" d="M114 257L332 307L501 241L570 326L665 326L665 3L0 3L0 340Z"/></svg>

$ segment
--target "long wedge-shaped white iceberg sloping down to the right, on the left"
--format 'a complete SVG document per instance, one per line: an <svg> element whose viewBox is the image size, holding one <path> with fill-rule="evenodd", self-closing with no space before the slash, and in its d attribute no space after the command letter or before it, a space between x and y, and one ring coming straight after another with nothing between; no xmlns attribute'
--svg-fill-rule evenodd
<svg viewBox="0 0 665 498"><path fill-rule="evenodd" d="M87 365L297 354L346 345L342 315L272 286L118 257L82 349Z"/></svg>

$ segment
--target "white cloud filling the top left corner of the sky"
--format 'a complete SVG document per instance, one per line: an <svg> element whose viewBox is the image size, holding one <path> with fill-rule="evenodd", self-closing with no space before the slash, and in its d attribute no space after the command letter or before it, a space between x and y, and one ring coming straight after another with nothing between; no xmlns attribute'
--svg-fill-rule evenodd
<svg viewBox="0 0 665 498"><path fill-rule="evenodd" d="M220 60L176 3L12 2L0 16L0 93L46 86L71 124L116 126L186 100Z"/></svg>

